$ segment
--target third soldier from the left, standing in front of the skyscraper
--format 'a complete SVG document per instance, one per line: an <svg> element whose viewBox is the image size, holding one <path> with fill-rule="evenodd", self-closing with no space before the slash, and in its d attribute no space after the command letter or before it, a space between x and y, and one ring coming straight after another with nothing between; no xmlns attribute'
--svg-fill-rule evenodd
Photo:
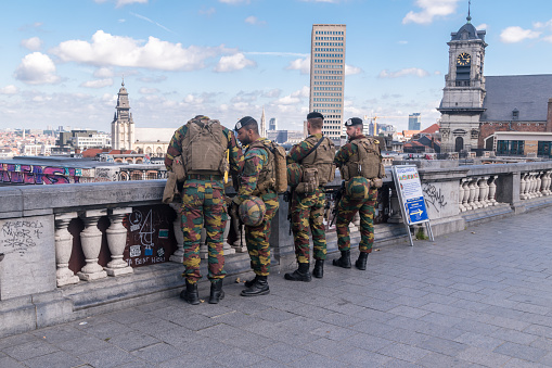
<svg viewBox="0 0 552 368"><path fill-rule="evenodd" d="M285 274L284 278L286 280L306 282L311 280L311 274L309 271L309 228L312 233L312 243L314 245L312 257L316 259L312 275L316 278L322 278L324 272L324 259L326 255L325 229L323 223L325 206L324 185L328 182L329 174L332 174L332 177L335 175L335 166L332 163L335 155L335 145L329 138L323 137L323 115L318 112L307 115L309 137L294 145L286 157L287 165L297 163L301 165L303 172L308 168L316 168L319 179L314 185L316 188L311 188L306 192L303 189L299 190L304 182L299 183L295 189L292 188L292 230L298 268L293 272ZM324 165L328 167L323 167ZM330 173L330 170L333 170L333 173ZM324 173L324 178L322 178L322 172ZM304 177L305 176L304 174Z"/></svg>

